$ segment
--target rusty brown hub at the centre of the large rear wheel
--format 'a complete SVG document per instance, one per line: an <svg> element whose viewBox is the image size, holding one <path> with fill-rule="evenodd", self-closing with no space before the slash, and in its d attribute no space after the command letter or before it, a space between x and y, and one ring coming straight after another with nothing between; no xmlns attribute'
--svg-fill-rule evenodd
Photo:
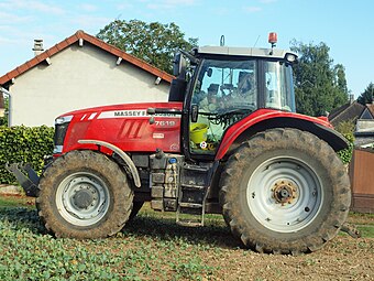
<svg viewBox="0 0 374 281"><path fill-rule="evenodd" d="M295 183L288 180L279 180L272 186L273 198L276 203L285 205L293 204L298 198L298 188Z"/></svg>

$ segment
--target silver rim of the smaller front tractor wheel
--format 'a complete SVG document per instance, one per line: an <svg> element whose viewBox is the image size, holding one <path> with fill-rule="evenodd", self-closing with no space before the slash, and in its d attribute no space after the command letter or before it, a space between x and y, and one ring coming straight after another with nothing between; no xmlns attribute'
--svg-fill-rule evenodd
<svg viewBox="0 0 374 281"><path fill-rule="evenodd" d="M76 226L100 221L109 209L109 188L89 172L67 176L57 187L56 205L62 217Z"/></svg>

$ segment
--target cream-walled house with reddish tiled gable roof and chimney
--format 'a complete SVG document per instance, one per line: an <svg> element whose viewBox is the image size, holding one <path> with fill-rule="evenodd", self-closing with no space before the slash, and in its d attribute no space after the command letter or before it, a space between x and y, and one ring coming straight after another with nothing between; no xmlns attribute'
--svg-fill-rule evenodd
<svg viewBox="0 0 374 281"><path fill-rule="evenodd" d="M75 109L167 101L173 76L103 41L78 31L0 77L10 94L9 125L53 126Z"/></svg>

